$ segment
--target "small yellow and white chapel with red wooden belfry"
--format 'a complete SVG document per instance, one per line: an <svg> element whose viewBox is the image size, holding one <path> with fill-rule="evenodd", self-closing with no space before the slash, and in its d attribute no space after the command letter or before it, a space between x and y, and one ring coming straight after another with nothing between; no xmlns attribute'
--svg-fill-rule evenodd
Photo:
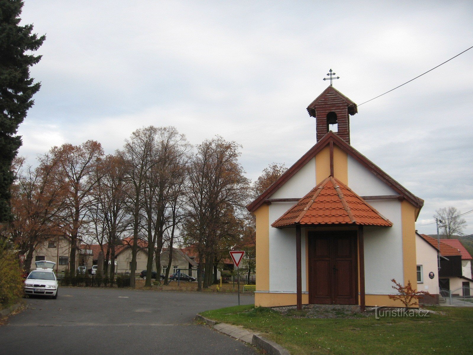
<svg viewBox="0 0 473 355"><path fill-rule="evenodd" d="M256 218L255 305L402 306L388 297L391 279L417 279L423 200L351 145L352 100L330 85L307 111L316 144L247 205Z"/></svg>

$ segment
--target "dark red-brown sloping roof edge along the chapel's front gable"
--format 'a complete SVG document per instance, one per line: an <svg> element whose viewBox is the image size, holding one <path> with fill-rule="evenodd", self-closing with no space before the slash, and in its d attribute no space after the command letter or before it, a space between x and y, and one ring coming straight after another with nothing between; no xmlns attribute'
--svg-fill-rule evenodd
<svg viewBox="0 0 473 355"><path fill-rule="evenodd" d="M282 176L276 180L270 187L268 187L263 194L259 195L252 203L246 206L246 209L250 212L254 212L259 206L264 204L265 200L274 194L281 186L283 186L291 177L293 177L300 169L302 169L308 161L314 158L320 151L322 151L325 146L330 142L333 142L334 145L339 147L342 151L345 151L352 158L357 160L361 165L375 174L381 181L385 182L387 186L393 188L398 194L403 195L403 197L409 201L413 206L418 210L416 213L416 218L420 212L420 208L424 205L424 200L413 195L405 187L395 181L392 177L387 175L383 170L381 170L377 165L372 161L368 160L363 154L354 149L350 144L343 141L336 133L329 132L325 134L319 142L317 142L306 154L304 154L298 161L294 163ZM290 196L290 197L299 197L299 196Z"/></svg>

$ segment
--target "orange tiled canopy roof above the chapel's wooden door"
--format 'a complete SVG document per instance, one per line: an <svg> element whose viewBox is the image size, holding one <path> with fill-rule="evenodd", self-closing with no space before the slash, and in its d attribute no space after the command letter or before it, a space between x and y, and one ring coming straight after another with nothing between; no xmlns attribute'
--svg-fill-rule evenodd
<svg viewBox="0 0 473 355"><path fill-rule="evenodd" d="M315 186L272 226L282 228L296 224L393 225L334 177L327 177Z"/></svg>

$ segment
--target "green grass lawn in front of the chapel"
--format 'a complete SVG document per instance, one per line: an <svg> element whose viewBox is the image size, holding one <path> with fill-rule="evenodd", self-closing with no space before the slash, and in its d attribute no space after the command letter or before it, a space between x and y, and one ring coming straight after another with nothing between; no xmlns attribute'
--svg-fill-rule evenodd
<svg viewBox="0 0 473 355"><path fill-rule="evenodd" d="M470 354L473 307L429 307L429 317L375 319L295 318L252 305L206 311L204 317L263 333L292 355L306 354ZM353 317L352 317L353 318Z"/></svg>

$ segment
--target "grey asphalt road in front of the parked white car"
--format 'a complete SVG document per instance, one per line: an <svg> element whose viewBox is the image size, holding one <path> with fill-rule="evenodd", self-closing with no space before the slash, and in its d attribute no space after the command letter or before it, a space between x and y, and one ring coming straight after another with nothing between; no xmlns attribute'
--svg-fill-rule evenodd
<svg viewBox="0 0 473 355"><path fill-rule="evenodd" d="M193 321L198 312L236 305L236 297L60 287L57 300L26 299L26 311L0 325L0 354L257 354ZM241 301L251 304L254 297Z"/></svg>

